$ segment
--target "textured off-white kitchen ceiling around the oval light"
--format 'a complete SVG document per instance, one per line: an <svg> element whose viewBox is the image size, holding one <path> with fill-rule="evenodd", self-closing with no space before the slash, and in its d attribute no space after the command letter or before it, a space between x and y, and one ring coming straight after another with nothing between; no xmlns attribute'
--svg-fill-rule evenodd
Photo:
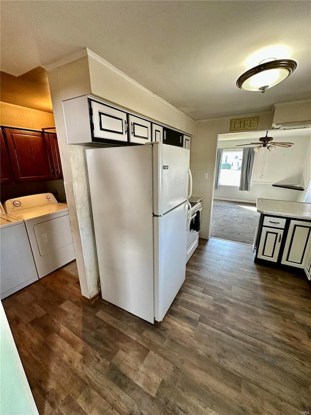
<svg viewBox="0 0 311 415"><path fill-rule="evenodd" d="M1 70L20 75L85 47L193 119L311 97L310 1L2 1ZM296 71L267 90L236 87L269 57Z"/></svg>

